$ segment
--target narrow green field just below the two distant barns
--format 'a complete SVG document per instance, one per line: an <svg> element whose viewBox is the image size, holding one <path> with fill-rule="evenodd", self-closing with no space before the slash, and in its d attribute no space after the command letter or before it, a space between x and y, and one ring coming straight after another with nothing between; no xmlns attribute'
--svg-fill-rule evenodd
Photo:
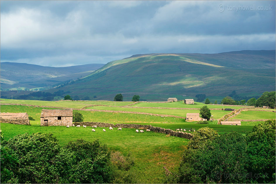
<svg viewBox="0 0 276 184"><path fill-rule="evenodd" d="M132 107L178 107L178 108L201 108L204 105L207 105L208 108L213 109L222 109L223 108L231 108L231 109L240 109L242 106L227 106L227 105L211 105L211 104L205 104L200 102L195 102L196 105L193 104L185 104L184 101L179 102L171 102L171 103L146 103L141 102L132 105ZM246 107L246 106L243 106Z"/></svg>

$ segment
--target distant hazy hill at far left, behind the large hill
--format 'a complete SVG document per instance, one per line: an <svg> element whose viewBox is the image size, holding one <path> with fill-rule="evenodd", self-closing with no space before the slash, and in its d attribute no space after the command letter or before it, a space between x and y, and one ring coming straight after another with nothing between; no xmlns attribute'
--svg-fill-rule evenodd
<svg viewBox="0 0 276 184"><path fill-rule="evenodd" d="M69 79L84 77L104 64L87 64L70 67L45 67L27 63L1 63L2 89L47 88Z"/></svg>

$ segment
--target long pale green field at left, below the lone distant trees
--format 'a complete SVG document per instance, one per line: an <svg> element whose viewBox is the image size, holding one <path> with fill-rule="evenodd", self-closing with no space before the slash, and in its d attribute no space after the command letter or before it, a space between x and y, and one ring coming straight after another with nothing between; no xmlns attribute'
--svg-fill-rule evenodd
<svg viewBox="0 0 276 184"><path fill-rule="evenodd" d="M1 99L1 103L18 103L18 104L30 104L30 105L44 105L53 107L69 107L69 108L82 108L87 105L111 105L115 106L113 101L41 101L41 100L11 100ZM116 106L130 105L134 102L116 102Z"/></svg>

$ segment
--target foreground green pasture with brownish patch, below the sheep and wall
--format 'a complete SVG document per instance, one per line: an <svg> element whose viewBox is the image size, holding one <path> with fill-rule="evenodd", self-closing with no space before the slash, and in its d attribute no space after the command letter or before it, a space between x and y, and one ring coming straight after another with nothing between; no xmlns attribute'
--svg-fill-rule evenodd
<svg viewBox="0 0 276 184"><path fill-rule="evenodd" d="M91 127L66 128L1 123L1 130L6 140L18 134L35 132L53 133L61 145L78 138L89 141L99 139L111 151L120 151L125 155L131 153L135 161L134 169L139 172L139 183L162 183L165 177L163 166L174 171L180 163L182 150L189 141L163 133L146 131L135 133L135 129L122 129L122 131L106 129L106 132L103 132L102 128L98 127L96 132L92 132Z"/></svg>

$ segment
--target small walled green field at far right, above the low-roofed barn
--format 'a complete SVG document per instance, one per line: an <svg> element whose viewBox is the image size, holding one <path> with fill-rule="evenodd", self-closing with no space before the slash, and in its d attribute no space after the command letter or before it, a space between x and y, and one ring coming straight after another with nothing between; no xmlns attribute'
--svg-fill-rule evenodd
<svg viewBox="0 0 276 184"><path fill-rule="evenodd" d="M241 111L231 119L275 119L275 112L268 111Z"/></svg>

